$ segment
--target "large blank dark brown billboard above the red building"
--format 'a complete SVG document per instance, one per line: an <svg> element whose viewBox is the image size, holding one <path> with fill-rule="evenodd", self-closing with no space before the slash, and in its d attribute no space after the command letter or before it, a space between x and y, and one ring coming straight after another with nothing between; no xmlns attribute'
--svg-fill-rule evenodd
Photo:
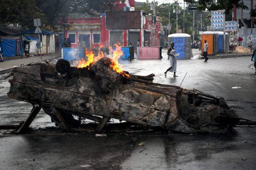
<svg viewBox="0 0 256 170"><path fill-rule="evenodd" d="M108 11L105 13L107 29L141 29L140 11Z"/></svg>

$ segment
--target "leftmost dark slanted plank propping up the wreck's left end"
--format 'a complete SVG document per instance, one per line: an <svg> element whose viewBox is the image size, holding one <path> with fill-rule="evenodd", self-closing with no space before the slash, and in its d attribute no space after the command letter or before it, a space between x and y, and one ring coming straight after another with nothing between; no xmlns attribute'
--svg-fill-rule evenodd
<svg viewBox="0 0 256 170"><path fill-rule="evenodd" d="M39 111L41 110L41 106L40 105L34 105L28 118L26 119L26 121L23 123L23 125L16 131L17 133L24 133L27 131L29 125L32 123L32 121L34 120L34 118L36 117L36 115L39 113Z"/></svg>

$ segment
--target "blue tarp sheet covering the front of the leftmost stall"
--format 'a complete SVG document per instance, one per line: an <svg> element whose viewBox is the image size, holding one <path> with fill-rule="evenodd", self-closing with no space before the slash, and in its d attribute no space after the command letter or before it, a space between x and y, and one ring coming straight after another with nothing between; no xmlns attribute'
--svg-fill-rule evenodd
<svg viewBox="0 0 256 170"><path fill-rule="evenodd" d="M16 39L1 39L1 53L3 57L16 56Z"/></svg>

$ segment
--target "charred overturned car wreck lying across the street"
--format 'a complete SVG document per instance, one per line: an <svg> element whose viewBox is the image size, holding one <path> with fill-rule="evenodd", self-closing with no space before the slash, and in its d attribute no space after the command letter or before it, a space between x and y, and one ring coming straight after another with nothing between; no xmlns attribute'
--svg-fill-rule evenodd
<svg viewBox="0 0 256 170"><path fill-rule="evenodd" d="M221 97L153 83L153 74L118 73L110 65L111 59L103 57L84 68L70 67L62 59L56 65L45 61L16 67L7 95L31 103L33 118L42 108L67 131L91 129L93 124L100 132L113 124L112 118L182 133L221 134L253 124L240 119Z"/></svg>

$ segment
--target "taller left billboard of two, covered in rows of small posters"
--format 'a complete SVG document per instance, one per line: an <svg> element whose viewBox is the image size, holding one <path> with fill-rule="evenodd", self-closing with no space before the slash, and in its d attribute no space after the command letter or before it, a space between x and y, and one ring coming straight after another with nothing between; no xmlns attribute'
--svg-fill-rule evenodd
<svg viewBox="0 0 256 170"><path fill-rule="evenodd" d="M211 28L224 28L224 10L211 11Z"/></svg>

